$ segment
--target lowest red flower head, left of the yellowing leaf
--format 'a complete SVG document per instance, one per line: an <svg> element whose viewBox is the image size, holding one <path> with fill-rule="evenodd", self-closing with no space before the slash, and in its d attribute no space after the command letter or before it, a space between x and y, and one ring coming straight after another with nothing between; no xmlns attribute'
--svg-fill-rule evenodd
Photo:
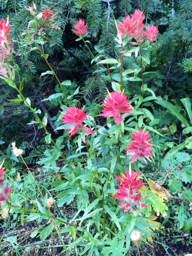
<svg viewBox="0 0 192 256"><path fill-rule="evenodd" d="M119 205L124 211L136 210L137 205L146 207L146 204L141 204L141 193L137 193L145 185L145 182L139 177L140 172L131 172L130 175L128 169L126 169L125 174L121 173L121 176L115 175L121 182L121 186L117 185L119 188L117 194L114 195L116 199L122 200Z"/></svg>

